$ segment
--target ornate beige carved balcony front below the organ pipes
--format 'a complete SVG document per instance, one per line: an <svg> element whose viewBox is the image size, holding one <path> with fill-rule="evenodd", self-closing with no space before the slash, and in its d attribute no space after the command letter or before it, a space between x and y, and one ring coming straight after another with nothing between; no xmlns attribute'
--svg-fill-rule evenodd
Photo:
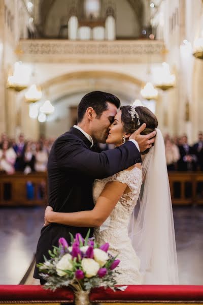
<svg viewBox="0 0 203 305"><path fill-rule="evenodd" d="M164 59L162 41L21 40L23 61L68 63L142 63Z"/></svg>

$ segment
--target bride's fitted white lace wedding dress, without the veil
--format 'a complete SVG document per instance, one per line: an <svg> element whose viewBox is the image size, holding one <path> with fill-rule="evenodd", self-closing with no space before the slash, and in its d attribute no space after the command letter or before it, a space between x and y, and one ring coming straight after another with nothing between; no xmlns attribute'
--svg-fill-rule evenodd
<svg viewBox="0 0 203 305"><path fill-rule="evenodd" d="M116 276L118 284L142 284L142 275L139 271L140 258L136 255L128 236L130 216L141 190L142 170L134 167L132 170L123 170L102 180L96 179L93 185L94 204L109 181L126 183L131 191L122 195L106 222L100 228L94 229L94 237L99 245L109 242L109 252L113 256L118 255L120 259L117 268L120 274Z"/></svg>

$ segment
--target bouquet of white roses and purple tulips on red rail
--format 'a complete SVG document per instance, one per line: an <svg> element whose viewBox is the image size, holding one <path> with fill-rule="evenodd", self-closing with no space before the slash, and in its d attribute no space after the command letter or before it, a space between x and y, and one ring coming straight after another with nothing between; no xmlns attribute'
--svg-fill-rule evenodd
<svg viewBox="0 0 203 305"><path fill-rule="evenodd" d="M104 286L114 289L115 268L119 260L108 253L109 243L98 247L93 238L85 239L80 233L72 242L59 238L59 247L49 251L50 259L44 257L45 262L38 264L40 276L46 281L45 289L55 290L62 286L69 286L75 291L90 291L91 288Z"/></svg>

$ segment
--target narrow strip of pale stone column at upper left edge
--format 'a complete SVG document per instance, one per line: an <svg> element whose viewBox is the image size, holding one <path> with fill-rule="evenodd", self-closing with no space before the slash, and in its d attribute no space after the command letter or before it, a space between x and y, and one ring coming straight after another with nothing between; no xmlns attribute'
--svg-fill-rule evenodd
<svg viewBox="0 0 203 305"><path fill-rule="evenodd" d="M0 0L0 133L7 132L4 73L5 3Z"/></svg>

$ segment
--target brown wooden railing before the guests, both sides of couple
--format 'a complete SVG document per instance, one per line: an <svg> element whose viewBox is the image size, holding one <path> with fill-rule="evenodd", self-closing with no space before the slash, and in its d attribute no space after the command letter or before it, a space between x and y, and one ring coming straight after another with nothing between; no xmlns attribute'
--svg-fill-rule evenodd
<svg viewBox="0 0 203 305"><path fill-rule="evenodd" d="M203 204L203 172L168 173L173 204ZM0 206L46 205L47 173L0 174Z"/></svg>

